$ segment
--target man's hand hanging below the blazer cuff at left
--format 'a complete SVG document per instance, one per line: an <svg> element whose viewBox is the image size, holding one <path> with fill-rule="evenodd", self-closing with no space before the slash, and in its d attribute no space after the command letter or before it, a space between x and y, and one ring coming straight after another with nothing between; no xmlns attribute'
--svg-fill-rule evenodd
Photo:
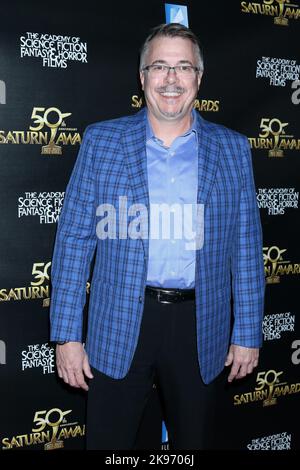
<svg viewBox="0 0 300 470"><path fill-rule="evenodd" d="M58 376L71 387L83 388L86 391L89 389L84 375L89 379L94 376L82 343L70 341L62 345L57 344L56 366Z"/></svg>

